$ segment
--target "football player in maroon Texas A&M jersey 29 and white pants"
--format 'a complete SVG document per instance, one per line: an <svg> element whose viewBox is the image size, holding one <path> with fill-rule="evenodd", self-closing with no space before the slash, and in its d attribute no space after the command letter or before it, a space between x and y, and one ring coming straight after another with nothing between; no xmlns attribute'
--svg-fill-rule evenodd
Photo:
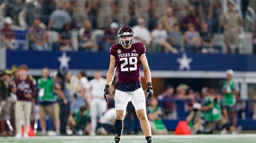
<svg viewBox="0 0 256 143"><path fill-rule="evenodd" d="M120 142L123 131L123 119L127 103L131 100L142 126L142 131L147 142L152 142L149 120L146 116L145 95L140 80L140 64L143 67L147 82L146 96L150 99L153 96L151 84L151 73L146 59L146 47L144 44L134 43L134 31L130 26L119 28L117 37L119 44L110 47L110 65L106 77L104 97L110 95L109 87L113 81L114 71L118 68L118 82L114 103L116 108L116 121L114 123L114 140Z"/></svg>

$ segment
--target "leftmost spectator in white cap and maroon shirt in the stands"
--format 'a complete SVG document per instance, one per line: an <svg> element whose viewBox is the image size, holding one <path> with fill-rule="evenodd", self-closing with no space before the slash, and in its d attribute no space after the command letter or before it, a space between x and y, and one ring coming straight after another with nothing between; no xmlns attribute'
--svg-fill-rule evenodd
<svg viewBox="0 0 256 143"><path fill-rule="evenodd" d="M10 17L5 17L4 19L4 27L1 30L1 33L4 35L4 47L6 49L17 49L18 41L15 38L14 31L11 29L12 19Z"/></svg>

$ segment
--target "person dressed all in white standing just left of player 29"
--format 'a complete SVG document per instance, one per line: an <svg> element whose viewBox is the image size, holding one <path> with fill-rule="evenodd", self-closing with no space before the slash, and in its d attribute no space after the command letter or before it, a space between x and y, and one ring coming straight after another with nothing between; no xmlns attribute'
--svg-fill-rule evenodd
<svg viewBox="0 0 256 143"><path fill-rule="evenodd" d="M102 96L102 91L105 88L106 79L102 77L99 70L95 71L94 77L90 83L91 89L91 102L90 102L90 114L92 124L92 135L95 135L97 116L100 117L107 110L107 103Z"/></svg>

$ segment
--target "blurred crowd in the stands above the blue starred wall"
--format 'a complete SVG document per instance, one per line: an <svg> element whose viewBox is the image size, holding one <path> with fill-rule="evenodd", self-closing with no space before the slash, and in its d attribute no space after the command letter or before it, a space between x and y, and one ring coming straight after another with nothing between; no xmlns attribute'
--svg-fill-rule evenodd
<svg viewBox="0 0 256 143"><path fill-rule="evenodd" d="M238 35L249 3L237 4L233 0L225 1L226 5L219 0L2 2L5 17L1 33L8 49L108 52L118 40L118 28L129 25L137 35L136 41L143 42L147 51L166 53L239 53L242 46ZM11 24L25 29L15 33ZM224 34L227 49L214 38L215 33ZM252 38L255 46L255 32Z"/></svg>

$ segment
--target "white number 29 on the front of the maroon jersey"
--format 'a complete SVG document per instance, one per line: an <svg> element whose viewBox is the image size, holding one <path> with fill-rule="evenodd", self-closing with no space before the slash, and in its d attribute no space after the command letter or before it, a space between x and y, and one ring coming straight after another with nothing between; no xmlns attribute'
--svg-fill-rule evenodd
<svg viewBox="0 0 256 143"><path fill-rule="evenodd" d="M129 62L128 62L129 59ZM120 58L120 61L124 61L124 63L121 64L121 71L133 71L133 70L137 70L137 57L125 57L125 58ZM124 68L126 65L133 65L134 67L126 67Z"/></svg>

